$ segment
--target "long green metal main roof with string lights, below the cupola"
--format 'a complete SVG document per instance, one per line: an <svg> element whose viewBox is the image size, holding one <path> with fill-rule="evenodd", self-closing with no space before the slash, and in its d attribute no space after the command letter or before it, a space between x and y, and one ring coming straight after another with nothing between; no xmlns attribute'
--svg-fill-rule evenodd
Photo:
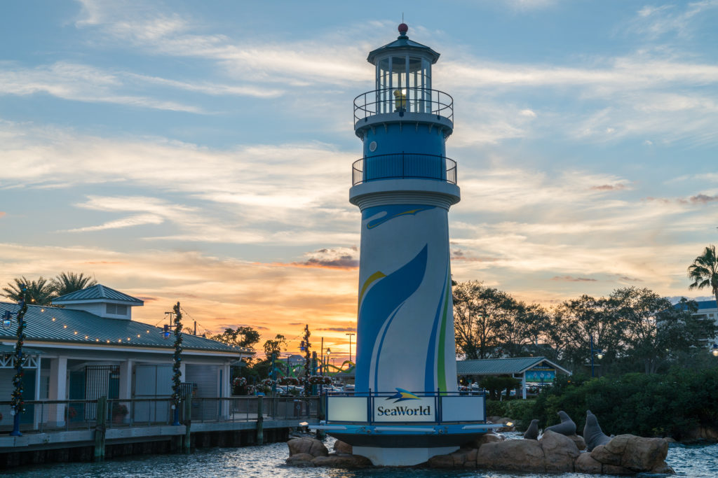
<svg viewBox="0 0 718 478"><path fill-rule="evenodd" d="M0 315L3 315L6 310L13 314L12 325L9 330L0 328L0 340L15 340L15 331L17 330L15 314L19 310L19 305L0 302ZM24 320L27 323L26 340L67 342L78 345L104 344L128 348L150 347L168 350L174 348L174 335L170 335L166 339L162 329L154 325L136 320L98 317L84 310L28 305ZM185 333L182 334L182 348L215 352L253 352L248 348L227 345Z"/></svg>

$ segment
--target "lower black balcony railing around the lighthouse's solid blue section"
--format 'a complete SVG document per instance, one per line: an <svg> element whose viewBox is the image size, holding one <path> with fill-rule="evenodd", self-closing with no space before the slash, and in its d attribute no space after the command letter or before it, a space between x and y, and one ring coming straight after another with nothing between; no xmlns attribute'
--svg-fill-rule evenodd
<svg viewBox="0 0 718 478"><path fill-rule="evenodd" d="M388 178L435 179L456 184L456 176L456 161L434 154L380 154L361 158L352 165L352 186Z"/></svg>

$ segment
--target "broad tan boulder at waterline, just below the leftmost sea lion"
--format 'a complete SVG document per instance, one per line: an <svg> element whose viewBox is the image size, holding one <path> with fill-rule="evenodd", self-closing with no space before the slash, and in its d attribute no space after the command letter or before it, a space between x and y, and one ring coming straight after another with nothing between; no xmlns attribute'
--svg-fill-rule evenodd
<svg viewBox="0 0 718 478"><path fill-rule="evenodd" d="M483 444L476 467L509 472L544 472L544 450L538 441L505 440Z"/></svg>

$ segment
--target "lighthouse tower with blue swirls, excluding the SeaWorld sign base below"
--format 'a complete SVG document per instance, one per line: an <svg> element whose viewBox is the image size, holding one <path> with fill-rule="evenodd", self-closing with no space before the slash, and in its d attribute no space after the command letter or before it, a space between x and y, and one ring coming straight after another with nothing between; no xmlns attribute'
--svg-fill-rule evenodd
<svg viewBox="0 0 718 478"><path fill-rule="evenodd" d="M363 157L350 202L361 211L355 387L457 391L449 207L460 200L446 156L452 97L432 89L433 49L407 36L369 53L376 89L354 101Z"/></svg>

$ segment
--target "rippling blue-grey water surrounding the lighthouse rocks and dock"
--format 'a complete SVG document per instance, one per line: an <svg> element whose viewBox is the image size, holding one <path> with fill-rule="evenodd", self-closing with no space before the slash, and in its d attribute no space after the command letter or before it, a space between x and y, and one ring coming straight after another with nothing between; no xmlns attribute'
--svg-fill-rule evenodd
<svg viewBox="0 0 718 478"><path fill-rule="evenodd" d="M327 440L327 445L333 442ZM327 446L331 448L331 446ZM22 467L3 472L6 477L27 478L608 478L597 474L521 474L476 470L376 468L341 470L287 467L289 450L284 443L243 448L200 449L191 455L146 455L111 459L104 463L64 463ZM718 444L684 446L671 444L666 459L676 476L714 478L718 475ZM644 475L646 476L646 475ZM662 476L662 475L650 475Z"/></svg>

